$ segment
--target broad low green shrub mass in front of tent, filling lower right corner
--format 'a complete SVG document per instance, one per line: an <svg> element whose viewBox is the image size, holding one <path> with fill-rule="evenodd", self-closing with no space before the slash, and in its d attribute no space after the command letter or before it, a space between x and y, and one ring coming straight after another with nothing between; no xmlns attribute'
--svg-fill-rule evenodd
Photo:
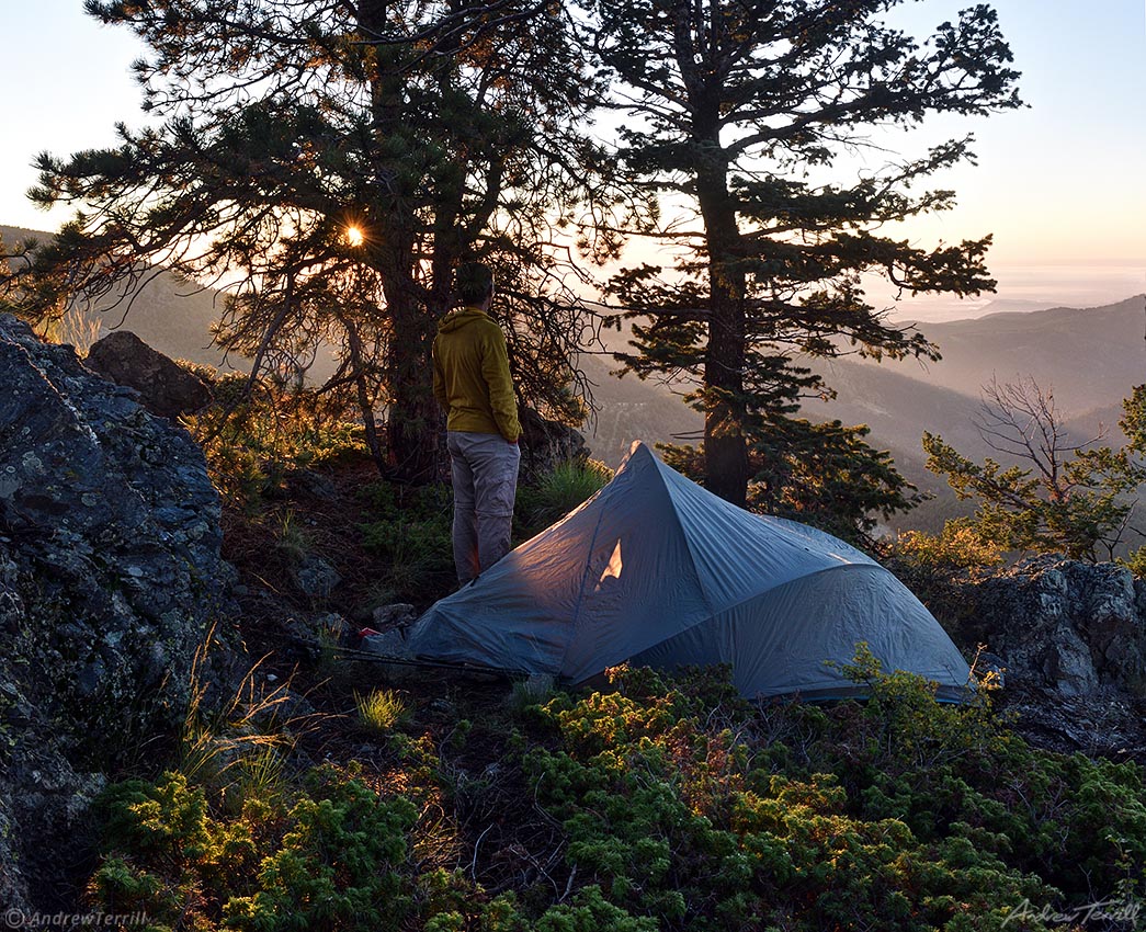
<svg viewBox="0 0 1146 932"><path fill-rule="evenodd" d="M559 741L527 773L579 879L662 930L1044 929L1044 904L1140 901L1139 768L1036 751L986 691L936 703L862 648L846 672L866 703L753 714L712 672L622 669L537 710Z"/></svg>

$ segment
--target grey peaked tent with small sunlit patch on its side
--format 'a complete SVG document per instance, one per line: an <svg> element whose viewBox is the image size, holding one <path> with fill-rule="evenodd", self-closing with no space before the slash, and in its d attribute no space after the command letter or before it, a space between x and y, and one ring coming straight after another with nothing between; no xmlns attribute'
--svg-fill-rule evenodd
<svg viewBox="0 0 1146 932"><path fill-rule="evenodd" d="M748 697L863 690L825 665L865 641L956 698L959 651L890 572L795 522L729 504L633 445L613 480L414 626L421 657L573 682L626 660L725 663Z"/></svg>

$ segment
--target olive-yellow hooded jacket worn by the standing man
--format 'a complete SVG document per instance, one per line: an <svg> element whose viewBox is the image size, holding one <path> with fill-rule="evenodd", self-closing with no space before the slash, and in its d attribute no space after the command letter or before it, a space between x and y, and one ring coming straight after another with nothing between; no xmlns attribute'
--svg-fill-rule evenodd
<svg viewBox="0 0 1146 932"><path fill-rule="evenodd" d="M521 434L505 335L485 311L462 307L438 324L433 395L447 430L500 433L510 442Z"/></svg>

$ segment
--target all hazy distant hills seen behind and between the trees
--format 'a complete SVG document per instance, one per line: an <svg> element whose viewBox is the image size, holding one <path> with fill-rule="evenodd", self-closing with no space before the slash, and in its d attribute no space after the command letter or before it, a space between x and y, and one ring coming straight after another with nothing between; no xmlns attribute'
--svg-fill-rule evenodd
<svg viewBox="0 0 1146 932"><path fill-rule="evenodd" d="M28 236L41 241L53 236L6 226L0 226L0 234L8 245ZM210 328L222 311L222 296L211 289L187 293L191 288L174 275L160 274L136 297L123 329L167 355L219 366L222 354L210 345ZM967 456L989 455L971 418L981 387L992 376L1012 382L1033 375L1044 390L1053 389L1065 423L1078 439L1093 436L1099 423L1116 434L1122 399L1146 383L1144 295L1089 308L1005 299L988 307L990 313L978 318L920 323L943 355L926 367L917 360L877 365L854 357L815 361L838 399L807 402L804 416L868 424L869 442L890 451L901 471L921 488L941 493L935 504L903 519L903 527L923 524L934 530L960 508L942 480L924 468L919 438L931 430ZM104 312L101 323L117 327L120 316L121 311ZM623 335L606 336L610 350L623 347ZM230 360L235 368L244 362ZM665 386L633 375L615 378L610 375L615 365L609 355L586 354L581 366L594 383L599 407L586 428L597 459L615 467L633 439L652 445L691 442L699 436L701 416ZM1122 439L1112 436L1109 442L1120 445Z"/></svg>

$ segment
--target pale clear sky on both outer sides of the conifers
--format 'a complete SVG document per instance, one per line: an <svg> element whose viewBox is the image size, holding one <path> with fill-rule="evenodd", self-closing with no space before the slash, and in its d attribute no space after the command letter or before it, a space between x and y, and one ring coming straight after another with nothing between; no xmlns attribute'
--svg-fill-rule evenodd
<svg viewBox="0 0 1146 932"><path fill-rule="evenodd" d="M971 5L909 0L897 19L923 36ZM1078 303L1146 290L1146 3L992 6L1030 108L892 138L904 152L964 131L978 139L978 166L935 179L957 191L958 207L909 235L925 244L992 232L990 266L1004 298L1030 298L1035 292L1023 283L1052 279ZM126 30L85 16L81 0L0 0L7 76L0 224L55 229L66 219L25 198L36 183L30 163L45 149L65 156L112 144L117 120L141 125L141 95L129 75L141 52Z"/></svg>

